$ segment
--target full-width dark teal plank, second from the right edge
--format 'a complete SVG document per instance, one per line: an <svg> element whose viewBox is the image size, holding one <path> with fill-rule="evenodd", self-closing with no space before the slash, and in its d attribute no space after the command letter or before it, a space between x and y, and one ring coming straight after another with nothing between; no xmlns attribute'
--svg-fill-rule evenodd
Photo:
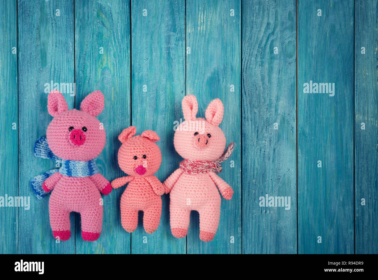
<svg viewBox="0 0 378 280"><path fill-rule="evenodd" d="M353 7L298 3L300 254L353 253Z"/></svg>

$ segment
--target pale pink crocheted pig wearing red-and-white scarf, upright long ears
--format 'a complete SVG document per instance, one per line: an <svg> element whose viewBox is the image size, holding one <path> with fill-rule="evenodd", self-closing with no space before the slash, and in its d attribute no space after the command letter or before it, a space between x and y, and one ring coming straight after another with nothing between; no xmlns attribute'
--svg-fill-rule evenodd
<svg viewBox="0 0 378 280"><path fill-rule="evenodd" d="M231 199L234 193L216 174L222 171L220 162L231 156L234 143L225 151L226 138L218 127L223 118L222 101L211 101L206 120L196 118L194 95L185 96L182 106L185 121L175 131L174 146L184 160L163 183L165 193L170 192L170 228L173 236L186 236L190 212L196 210L200 214L200 239L211 241L220 217L221 198L215 185L225 199Z"/></svg>

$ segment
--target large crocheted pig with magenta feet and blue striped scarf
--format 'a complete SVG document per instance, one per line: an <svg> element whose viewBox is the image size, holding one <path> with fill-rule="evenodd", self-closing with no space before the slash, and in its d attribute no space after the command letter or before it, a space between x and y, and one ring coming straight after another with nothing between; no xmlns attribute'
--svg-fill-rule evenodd
<svg viewBox="0 0 378 280"><path fill-rule="evenodd" d="M47 109L54 118L46 138L39 138L34 145L34 154L58 160L60 168L34 177L32 190L38 198L51 192L50 224L55 238L70 238L70 212L79 212L83 240L95 241L102 227L100 192L109 194L112 190L95 163L105 146L105 130L95 117L104 109L104 95L92 92L80 110L68 110L64 96L54 90L48 95Z"/></svg>

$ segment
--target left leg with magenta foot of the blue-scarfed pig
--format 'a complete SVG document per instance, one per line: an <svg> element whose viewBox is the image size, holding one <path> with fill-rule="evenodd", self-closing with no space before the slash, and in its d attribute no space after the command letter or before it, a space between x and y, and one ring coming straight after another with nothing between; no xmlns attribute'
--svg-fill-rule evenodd
<svg viewBox="0 0 378 280"><path fill-rule="evenodd" d="M50 198L49 203L50 212L50 225L53 230L53 236L61 241L70 239L71 236L71 223L70 212L64 210L61 205L58 205L53 199Z"/></svg>

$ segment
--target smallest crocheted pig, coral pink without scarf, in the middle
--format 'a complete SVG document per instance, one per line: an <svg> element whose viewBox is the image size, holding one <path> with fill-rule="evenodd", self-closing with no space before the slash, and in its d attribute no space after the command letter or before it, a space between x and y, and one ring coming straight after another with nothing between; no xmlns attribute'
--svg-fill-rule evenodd
<svg viewBox="0 0 378 280"><path fill-rule="evenodd" d="M160 138L155 131L146 130L133 137L135 126L130 126L118 136L122 145L118 150L118 164L129 176L112 181L113 188L129 183L121 196L121 223L127 232L138 226L138 212L143 211L143 227L147 233L158 229L161 216L163 184L153 176L161 163L161 152L154 142Z"/></svg>

